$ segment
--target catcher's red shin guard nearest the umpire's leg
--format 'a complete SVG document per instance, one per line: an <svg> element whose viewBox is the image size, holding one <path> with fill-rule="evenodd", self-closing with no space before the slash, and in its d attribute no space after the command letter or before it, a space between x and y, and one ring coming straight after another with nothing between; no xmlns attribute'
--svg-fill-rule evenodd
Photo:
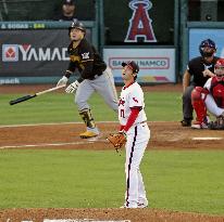
<svg viewBox="0 0 224 222"><path fill-rule="evenodd" d="M204 94L204 99L202 99L202 94ZM207 91L208 94L208 91ZM207 107L206 107L206 91L201 87L196 87L196 89L191 92L191 103L192 107L196 110L197 121L203 122L204 118L207 117Z"/></svg>

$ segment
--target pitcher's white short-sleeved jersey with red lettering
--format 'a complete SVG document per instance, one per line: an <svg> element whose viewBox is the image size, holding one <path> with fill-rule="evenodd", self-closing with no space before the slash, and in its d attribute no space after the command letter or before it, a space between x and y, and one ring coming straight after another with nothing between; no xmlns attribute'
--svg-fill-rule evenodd
<svg viewBox="0 0 224 222"><path fill-rule="evenodd" d="M144 110L144 92L137 82L134 82L127 88L123 87L122 89L119 102L119 120L122 126L126 126L132 107L141 107L134 126L147 120L146 113Z"/></svg>

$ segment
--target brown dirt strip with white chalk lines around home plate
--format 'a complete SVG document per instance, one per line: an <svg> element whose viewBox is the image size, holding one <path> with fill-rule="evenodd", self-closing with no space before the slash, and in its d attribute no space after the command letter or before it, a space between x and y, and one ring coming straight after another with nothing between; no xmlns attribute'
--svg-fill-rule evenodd
<svg viewBox="0 0 224 222"><path fill-rule="evenodd" d="M0 148L111 149L107 136L117 122L99 122L101 134L83 140L83 123L0 127ZM224 149L224 131L192 130L179 122L149 122L151 149Z"/></svg>

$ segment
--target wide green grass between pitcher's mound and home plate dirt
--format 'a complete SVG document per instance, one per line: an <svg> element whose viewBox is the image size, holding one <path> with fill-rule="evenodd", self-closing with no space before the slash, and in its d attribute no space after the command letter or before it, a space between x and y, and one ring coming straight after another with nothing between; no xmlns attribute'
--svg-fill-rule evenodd
<svg viewBox="0 0 224 222"><path fill-rule="evenodd" d="M0 208L120 207L124 153L1 151ZM224 214L224 152L146 152L150 208Z"/></svg>

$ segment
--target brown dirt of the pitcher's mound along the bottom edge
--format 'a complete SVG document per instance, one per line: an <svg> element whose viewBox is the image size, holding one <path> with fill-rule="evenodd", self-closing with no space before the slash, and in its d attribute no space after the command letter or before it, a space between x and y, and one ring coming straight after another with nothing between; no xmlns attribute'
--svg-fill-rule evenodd
<svg viewBox="0 0 224 222"><path fill-rule="evenodd" d="M1 222L223 222L224 217L151 209L11 209L0 210ZM46 220L50 219L50 220ZM54 221L53 221L54 219ZM65 220L66 219L66 220ZM86 220L84 220L86 219ZM89 220L87 220L89 219ZM91 219L91 220L90 220Z"/></svg>

